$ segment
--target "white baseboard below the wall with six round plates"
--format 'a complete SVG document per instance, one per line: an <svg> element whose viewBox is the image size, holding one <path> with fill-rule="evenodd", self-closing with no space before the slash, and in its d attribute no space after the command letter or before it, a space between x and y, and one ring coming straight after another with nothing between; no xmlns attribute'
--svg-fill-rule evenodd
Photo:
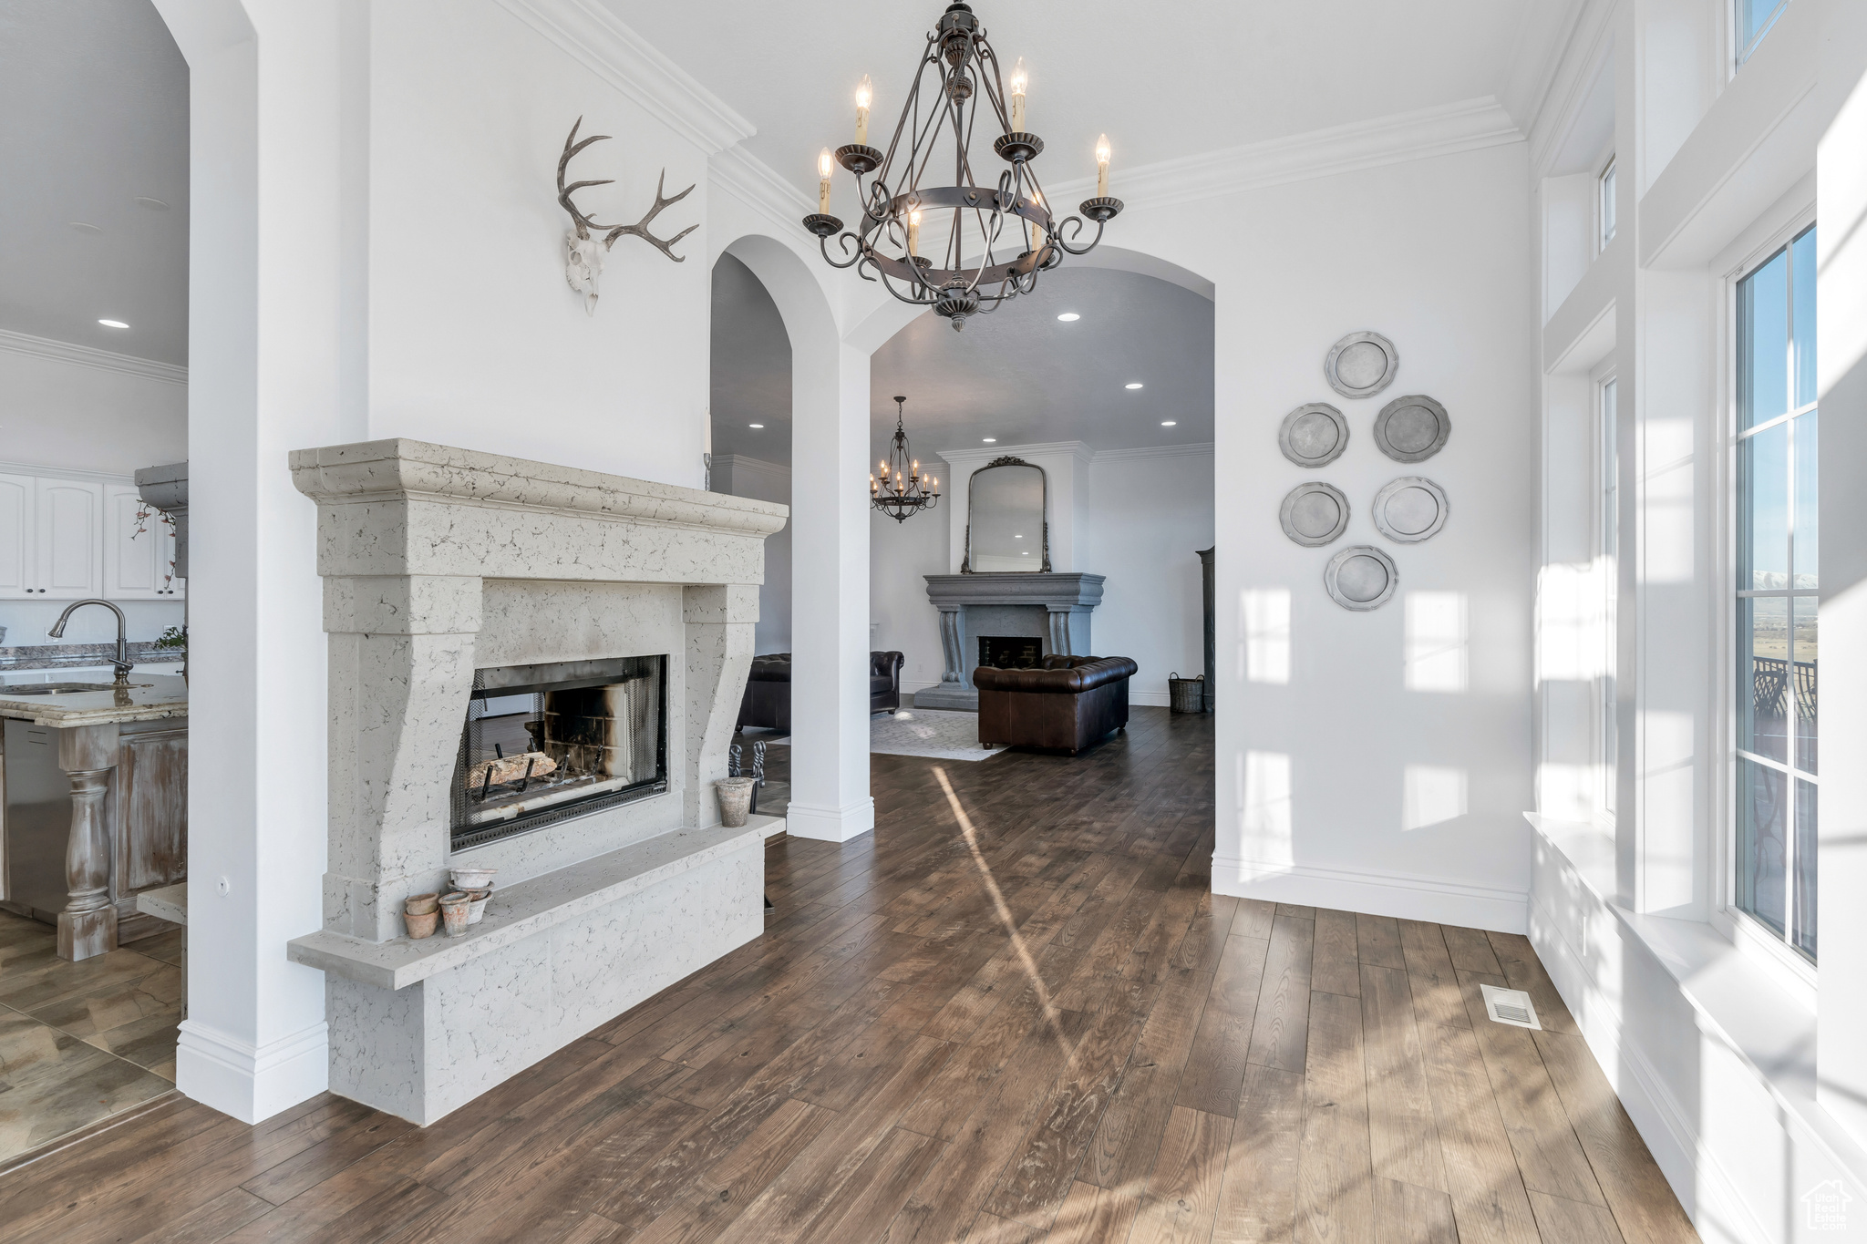
<svg viewBox="0 0 1867 1244"><path fill-rule="evenodd" d="M1404 873L1357 873L1214 856L1212 892L1494 933L1523 933L1529 923L1529 895L1523 892Z"/></svg>

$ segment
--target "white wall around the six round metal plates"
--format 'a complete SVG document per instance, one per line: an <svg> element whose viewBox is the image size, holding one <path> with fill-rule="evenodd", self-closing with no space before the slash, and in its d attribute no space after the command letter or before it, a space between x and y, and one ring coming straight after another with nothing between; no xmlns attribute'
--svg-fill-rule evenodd
<svg viewBox="0 0 1867 1244"><path fill-rule="evenodd" d="M1253 190L1202 214L1236 222L1214 272L1214 888L1520 931L1535 541L1523 144ZM1344 399L1322 360L1361 328L1395 341L1400 373L1376 397ZM1404 394L1438 397L1453 420L1426 463L1374 448L1374 416ZM1309 401L1350 423L1348 451L1322 470L1277 451L1279 422ZM1445 489L1451 518L1423 545L1395 545L1369 505L1413 474ZM1283 496L1311 479L1352 505L1326 548L1290 543L1277 522ZM1398 565L1383 608L1348 612L1324 593L1324 567L1348 545Z"/></svg>

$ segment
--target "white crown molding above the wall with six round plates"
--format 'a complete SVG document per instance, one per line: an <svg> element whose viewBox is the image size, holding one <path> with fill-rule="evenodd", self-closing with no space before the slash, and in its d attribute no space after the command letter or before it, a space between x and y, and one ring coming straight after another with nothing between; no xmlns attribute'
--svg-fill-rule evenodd
<svg viewBox="0 0 1867 1244"><path fill-rule="evenodd" d="M1120 170L1115 188L1130 207L1174 207L1522 140L1523 132L1503 104L1484 95ZM1092 192L1094 185L1092 177L1068 181L1049 198L1068 203L1077 194Z"/></svg>

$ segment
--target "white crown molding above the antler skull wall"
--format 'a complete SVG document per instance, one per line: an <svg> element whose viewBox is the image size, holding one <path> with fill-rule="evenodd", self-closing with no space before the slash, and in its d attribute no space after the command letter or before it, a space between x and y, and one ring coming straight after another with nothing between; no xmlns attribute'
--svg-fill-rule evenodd
<svg viewBox="0 0 1867 1244"><path fill-rule="evenodd" d="M498 6L708 155L758 132L698 78L592 0L498 0Z"/></svg>

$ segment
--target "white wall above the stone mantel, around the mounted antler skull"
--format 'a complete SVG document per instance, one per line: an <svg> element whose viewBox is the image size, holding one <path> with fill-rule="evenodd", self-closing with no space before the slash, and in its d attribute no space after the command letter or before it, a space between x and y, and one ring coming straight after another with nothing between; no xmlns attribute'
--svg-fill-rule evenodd
<svg viewBox="0 0 1867 1244"><path fill-rule="evenodd" d="M625 224L663 168L668 194L704 183L706 149L493 0L370 13L370 435L700 487L708 190L652 226L700 226L685 261L618 239L586 315L553 179L583 116L612 138L566 179L612 177L577 201Z"/></svg>

